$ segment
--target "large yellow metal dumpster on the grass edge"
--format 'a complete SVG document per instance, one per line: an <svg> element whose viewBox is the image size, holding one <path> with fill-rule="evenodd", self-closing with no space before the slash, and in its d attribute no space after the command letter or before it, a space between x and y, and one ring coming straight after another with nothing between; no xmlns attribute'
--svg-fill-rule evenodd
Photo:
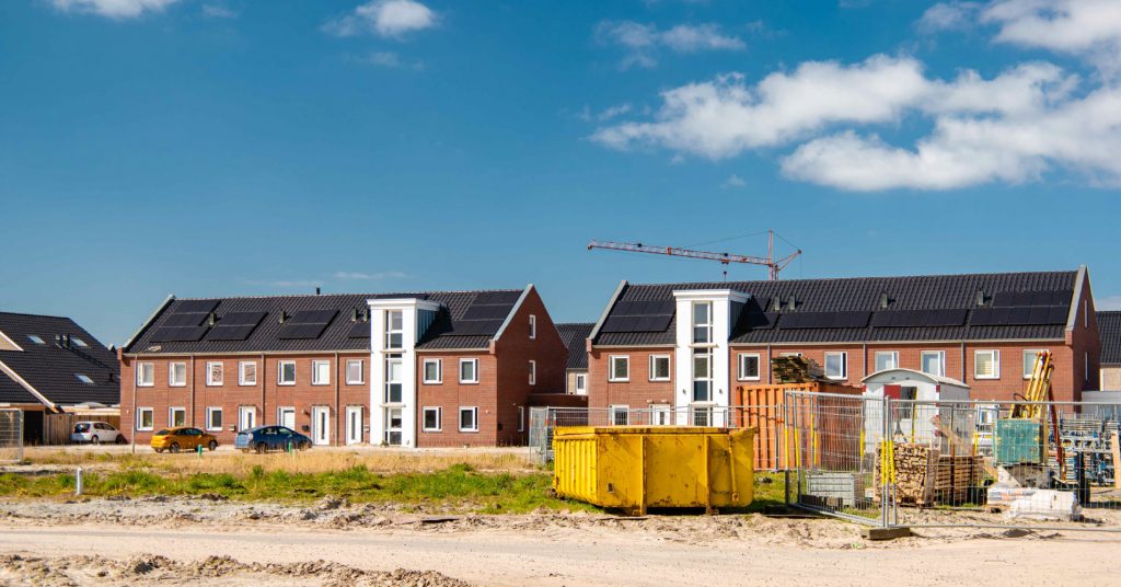
<svg viewBox="0 0 1121 587"><path fill-rule="evenodd" d="M557 494L639 515L648 507L743 507L756 429L572 427L553 437Z"/></svg>

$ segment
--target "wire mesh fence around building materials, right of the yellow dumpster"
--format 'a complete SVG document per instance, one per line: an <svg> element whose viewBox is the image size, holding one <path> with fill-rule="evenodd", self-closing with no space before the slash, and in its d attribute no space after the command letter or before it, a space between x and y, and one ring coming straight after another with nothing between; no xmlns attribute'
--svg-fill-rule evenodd
<svg viewBox="0 0 1121 587"><path fill-rule="evenodd" d="M1119 407L791 392L788 495L877 525L1121 531Z"/></svg>

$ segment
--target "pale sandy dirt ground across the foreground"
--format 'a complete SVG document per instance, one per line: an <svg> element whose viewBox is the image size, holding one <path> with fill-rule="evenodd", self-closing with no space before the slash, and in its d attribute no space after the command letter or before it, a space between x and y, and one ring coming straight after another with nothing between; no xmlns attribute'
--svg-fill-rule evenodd
<svg viewBox="0 0 1121 587"><path fill-rule="evenodd" d="M331 498L303 507L12 501L0 502L0 584L867 586L884 577L914 586L1118 584L1121 534L918 534L868 542L844 522L757 514L454 516Z"/></svg>

